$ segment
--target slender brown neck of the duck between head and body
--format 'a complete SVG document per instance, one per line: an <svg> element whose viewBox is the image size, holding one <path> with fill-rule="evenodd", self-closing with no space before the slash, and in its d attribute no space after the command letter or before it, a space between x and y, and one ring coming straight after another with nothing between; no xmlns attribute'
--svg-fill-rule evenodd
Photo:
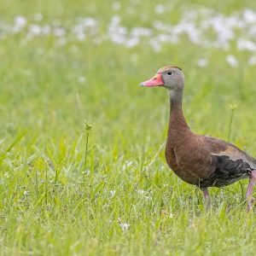
<svg viewBox="0 0 256 256"><path fill-rule="evenodd" d="M173 96L172 92L169 92L170 96L170 119L168 127L169 141L176 141L178 138L183 138L190 133L189 125L183 116L182 102L183 94L179 96Z"/></svg>

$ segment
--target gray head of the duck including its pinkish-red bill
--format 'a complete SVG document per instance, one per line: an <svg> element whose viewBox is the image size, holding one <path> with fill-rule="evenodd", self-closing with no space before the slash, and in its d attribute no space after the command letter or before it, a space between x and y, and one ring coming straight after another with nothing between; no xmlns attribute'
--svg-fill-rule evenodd
<svg viewBox="0 0 256 256"><path fill-rule="evenodd" d="M161 67L154 78L141 83L141 86L163 86L172 97L182 96L185 77L179 67Z"/></svg>

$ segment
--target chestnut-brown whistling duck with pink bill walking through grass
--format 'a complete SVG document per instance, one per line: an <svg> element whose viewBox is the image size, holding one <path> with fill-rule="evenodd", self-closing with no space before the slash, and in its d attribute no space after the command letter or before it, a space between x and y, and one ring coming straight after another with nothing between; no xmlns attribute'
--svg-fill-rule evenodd
<svg viewBox="0 0 256 256"><path fill-rule="evenodd" d="M166 139L166 161L184 182L198 186L210 205L208 187L224 187L249 177L247 209L252 209L256 160L231 143L190 131L183 116L184 75L179 67L162 67L141 86L162 86L170 97L170 119Z"/></svg>

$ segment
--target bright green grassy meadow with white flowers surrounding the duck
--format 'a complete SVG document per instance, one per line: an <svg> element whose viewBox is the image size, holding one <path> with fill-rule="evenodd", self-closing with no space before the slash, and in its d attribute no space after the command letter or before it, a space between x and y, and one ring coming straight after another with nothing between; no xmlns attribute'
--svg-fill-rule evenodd
<svg viewBox="0 0 256 256"><path fill-rule="evenodd" d="M253 255L248 181L206 212L139 84L183 68L191 130L256 157L256 3L3 0L0 57L1 255Z"/></svg>

